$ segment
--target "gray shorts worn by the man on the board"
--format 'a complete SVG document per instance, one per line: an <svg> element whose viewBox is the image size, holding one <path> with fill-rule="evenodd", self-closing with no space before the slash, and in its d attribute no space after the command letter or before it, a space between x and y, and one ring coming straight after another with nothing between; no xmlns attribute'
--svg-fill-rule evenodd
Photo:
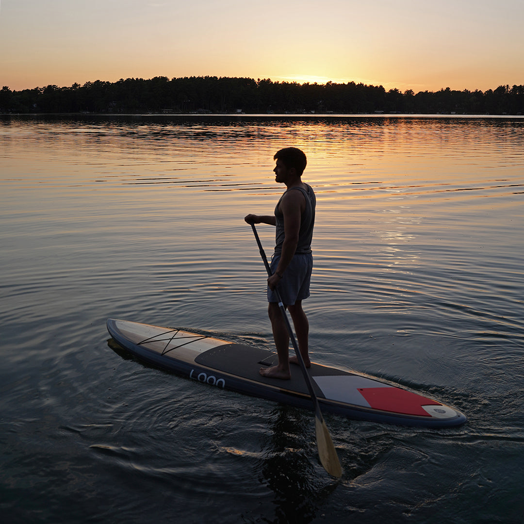
<svg viewBox="0 0 524 524"><path fill-rule="evenodd" d="M273 255L271 258L271 272L277 269L280 255ZM295 255L289 266L284 271L283 278L278 283L277 289L280 293L282 303L293 305L297 300L304 300L309 297L309 283L311 281L311 271L313 269L313 256L311 253L306 255ZM267 288L268 302L278 302L273 291Z"/></svg>

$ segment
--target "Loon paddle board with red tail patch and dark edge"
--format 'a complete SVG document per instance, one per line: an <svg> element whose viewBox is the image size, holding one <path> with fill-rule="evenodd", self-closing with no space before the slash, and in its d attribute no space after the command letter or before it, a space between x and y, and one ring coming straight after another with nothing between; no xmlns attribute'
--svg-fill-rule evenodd
<svg viewBox="0 0 524 524"><path fill-rule="evenodd" d="M292 369L291 380L259 374L260 367L273 366L278 361L276 353L269 350L126 320L109 319L107 330L120 346L156 367L219 388L311 409L308 387L298 366ZM308 373L323 412L432 428L457 426L466 421L463 413L438 400L377 378L314 363Z"/></svg>

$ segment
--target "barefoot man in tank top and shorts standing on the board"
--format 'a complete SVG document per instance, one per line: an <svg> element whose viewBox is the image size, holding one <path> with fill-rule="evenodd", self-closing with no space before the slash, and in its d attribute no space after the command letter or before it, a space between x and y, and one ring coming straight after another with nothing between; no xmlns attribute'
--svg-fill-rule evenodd
<svg viewBox="0 0 524 524"><path fill-rule="evenodd" d="M315 194L311 187L302 182L302 173L307 159L300 149L287 147L277 151L273 157L276 166L275 180L286 185L286 192L278 201L274 215L247 215L248 224L269 224L276 226L275 253L271 258L272 275L267 279L268 313L278 354L278 365L261 368L265 377L290 379L289 363L298 363L297 357L289 357L289 333L280 313L274 289L288 309L300 354L306 367L309 359L309 322L302 309L302 300L309 297L309 283L313 268L311 239L315 222Z"/></svg>

